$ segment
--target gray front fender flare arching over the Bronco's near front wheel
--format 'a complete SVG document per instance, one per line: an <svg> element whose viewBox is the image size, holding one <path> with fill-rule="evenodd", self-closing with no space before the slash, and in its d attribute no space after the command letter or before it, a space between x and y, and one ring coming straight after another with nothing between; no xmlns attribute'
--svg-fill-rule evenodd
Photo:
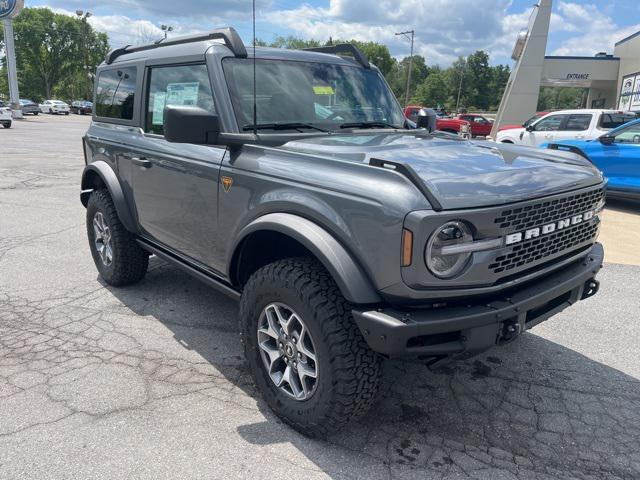
<svg viewBox="0 0 640 480"><path fill-rule="evenodd" d="M302 244L329 271L349 302L356 304L382 302L364 270L333 235L321 226L290 213L269 213L241 230L232 249L234 256L242 241L258 231L282 233Z"/></svg>

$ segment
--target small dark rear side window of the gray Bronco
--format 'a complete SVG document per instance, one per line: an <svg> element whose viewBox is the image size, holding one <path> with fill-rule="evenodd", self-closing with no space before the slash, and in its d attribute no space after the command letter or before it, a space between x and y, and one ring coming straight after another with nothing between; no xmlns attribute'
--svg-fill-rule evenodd
<svg viewBox="0 0 640 480"><path fill-rule="evenodd" d="M118 120L133 119L136 95L135 67L105 70L98 77L96 115Z"/></svg>

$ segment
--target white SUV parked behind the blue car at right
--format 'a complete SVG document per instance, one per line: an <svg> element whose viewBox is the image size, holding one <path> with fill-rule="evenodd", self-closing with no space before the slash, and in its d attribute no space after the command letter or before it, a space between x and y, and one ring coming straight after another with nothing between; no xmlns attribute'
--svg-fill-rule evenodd
<svg viewBox="0 0 640 480"><path fill-rule="evenodd" d="M560 110L526 128L498 132L496 142L539 147L559 140L594 140L635 118L631 112L618 110Z"/></svg>

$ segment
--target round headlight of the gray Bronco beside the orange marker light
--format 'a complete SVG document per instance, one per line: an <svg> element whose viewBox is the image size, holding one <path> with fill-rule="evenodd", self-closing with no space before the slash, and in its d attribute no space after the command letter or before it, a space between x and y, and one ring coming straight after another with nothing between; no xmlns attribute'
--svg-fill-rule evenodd
<svg viewBox="0 0 640 480"><path fill-rule="evenodd" d="M473 242L473 235L463 222L447 222L438 228L431 235L425 252L431 273L438 278L453 278L462 273L471 253L447 253L445 247L469 242Z"/></svg>

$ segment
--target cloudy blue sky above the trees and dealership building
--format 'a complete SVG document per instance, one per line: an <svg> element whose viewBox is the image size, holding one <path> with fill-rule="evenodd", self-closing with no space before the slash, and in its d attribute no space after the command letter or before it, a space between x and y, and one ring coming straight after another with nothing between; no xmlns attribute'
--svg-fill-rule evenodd
<svg viewBox="0 0 640 480"><path fill-rule="evenodd" d="M93 13L92 25L109 34L113 46L150 41L159 26L176 33L235 26L251 40L251 0L39 0L63 13ZM258 37L276 35L326 40L355 38L385 43L394 56L409 44L394 35L415 29L416 52L428 64L447 66L458 55L484 49L492 63L510 63L515 37L526 27L533 0L257 0ZM640 30L639 0L554 0L547 53L594 55L613 51L616 41Z"/></svg>

